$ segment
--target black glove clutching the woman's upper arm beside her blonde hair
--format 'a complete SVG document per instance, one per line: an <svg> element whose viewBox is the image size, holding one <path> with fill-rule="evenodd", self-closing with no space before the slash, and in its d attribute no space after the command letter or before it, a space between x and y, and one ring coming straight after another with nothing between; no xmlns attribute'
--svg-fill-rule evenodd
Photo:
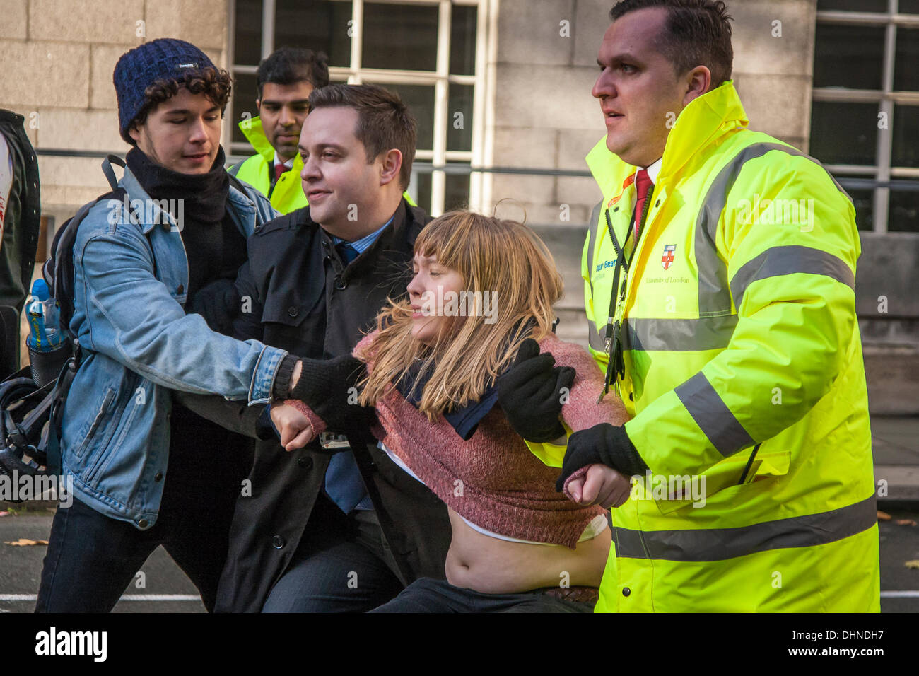
<svg viewBox="0 0 919 676"><path fill-rule="evenodd" d="M564 436L559 420L562 387L571 388L574 369L556 366L550 354L539 354L539 343L527 338L510 369L498 378L498 404L517 434L542 443Z"/></svg>

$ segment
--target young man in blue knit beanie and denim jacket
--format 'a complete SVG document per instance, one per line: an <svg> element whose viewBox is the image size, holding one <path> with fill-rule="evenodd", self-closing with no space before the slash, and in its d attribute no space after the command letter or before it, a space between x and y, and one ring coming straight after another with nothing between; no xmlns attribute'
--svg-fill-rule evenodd
<svg viewBox="0 0 919 676"><path fill-rule="evenodd" d="M204 286L233 287L246 237L275 212L231 185L221 148L231 80L204 52L152 40L119 59L113 80L133 147L75 236L70 328L84 357L61 464L76 499L55 513L36 610L110 611L161 544L210 610L252 447L173 396L267 400L281 385L287 395L285 350L221 335L196 312Z"/></svg>

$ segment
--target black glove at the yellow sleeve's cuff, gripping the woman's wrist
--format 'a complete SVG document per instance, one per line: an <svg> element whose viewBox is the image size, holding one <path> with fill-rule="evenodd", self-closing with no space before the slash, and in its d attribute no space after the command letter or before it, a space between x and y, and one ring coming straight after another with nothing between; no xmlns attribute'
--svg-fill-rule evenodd
<svg viewBox="0 0 919 676"><path fill-rule="evenodd" d="M605 464L626 476L644 475L648 470L626 429L601 422L592 428L576 431L569 438L562 461L562 475L555 482L555 490L561 493L569 476L585 465L595 463Z"/></svg>

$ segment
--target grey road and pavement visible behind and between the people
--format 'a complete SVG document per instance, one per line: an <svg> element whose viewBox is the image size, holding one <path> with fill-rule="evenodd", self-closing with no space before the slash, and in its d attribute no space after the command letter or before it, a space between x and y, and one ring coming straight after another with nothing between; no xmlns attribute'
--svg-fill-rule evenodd
<svg viewBox="0 0 919 676"><path fill-rule="evenodd" d="M919 613L919 418L871 418L879 521L880 607L882 613ZM47 540L53 505L0 502L0 613L35 608L42 544L5 544L20 538ZM907 562L911 562L907 566ZM915 563L913 563L915 562ZM157 548L125 590L116 613L204 613L195 586L165 552Z"/></svg>

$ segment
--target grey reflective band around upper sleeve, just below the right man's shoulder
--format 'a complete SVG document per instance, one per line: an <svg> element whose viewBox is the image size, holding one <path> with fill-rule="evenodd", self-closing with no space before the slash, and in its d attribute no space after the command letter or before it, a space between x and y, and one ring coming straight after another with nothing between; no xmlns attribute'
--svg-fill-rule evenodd
<svg viewBox="0 0 919 676"><path fill-rule="evenodd" d="M754 281L796 272L826 275L835 281L843 282L853 290L856 288L856 276L842 258L811 246L773 246L756 258L748 260L737 270L731 280L734 304L740 307L743 292Z"/></svg>

